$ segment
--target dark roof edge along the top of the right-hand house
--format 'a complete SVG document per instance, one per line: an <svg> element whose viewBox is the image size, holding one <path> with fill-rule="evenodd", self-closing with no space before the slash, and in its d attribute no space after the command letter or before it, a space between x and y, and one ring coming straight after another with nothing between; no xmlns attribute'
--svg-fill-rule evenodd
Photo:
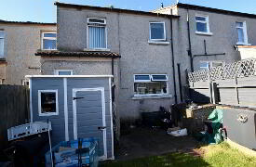
<svg viewBox="0 0 256 167"><path fill-rule="evenodd" d="M223 10L223 9L219 9L219 8L211 8L211 7L206 7L206 6L195 6L195 5L182 4L182 3L178 3L176 6L178 6L178 8L179 7L180 8L188 8L188 9L195 9L195 10L201 10L201 11L206 11L206 12L215 12L215 13L221 13L221 14L225 14L225 15L236 15L236 16L256 19L256 15L254 15L254 14L241 13L241 12L230 11L230 10Z"/></svg>

